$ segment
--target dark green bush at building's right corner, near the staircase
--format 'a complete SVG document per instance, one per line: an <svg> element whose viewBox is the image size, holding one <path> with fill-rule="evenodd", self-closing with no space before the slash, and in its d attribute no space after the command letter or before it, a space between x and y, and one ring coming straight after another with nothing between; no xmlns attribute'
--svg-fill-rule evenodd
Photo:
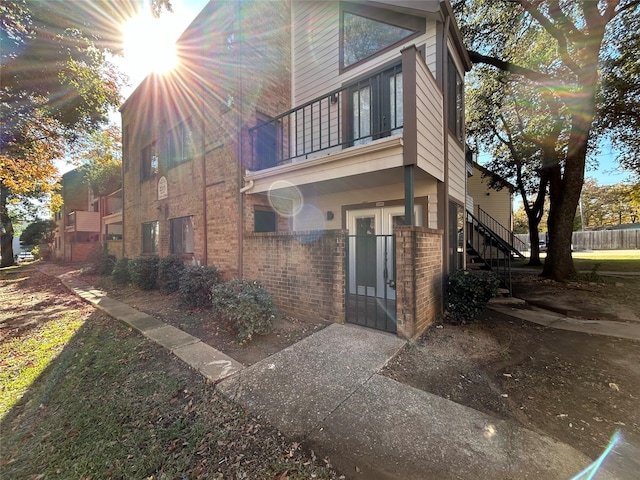
<svg viewBox="0 0 640 480"><path fill-rule="evenodd" d="M470 323L498 293L499 280L493 272L458 270L449 276L447 310L454 323Z"/></svg>

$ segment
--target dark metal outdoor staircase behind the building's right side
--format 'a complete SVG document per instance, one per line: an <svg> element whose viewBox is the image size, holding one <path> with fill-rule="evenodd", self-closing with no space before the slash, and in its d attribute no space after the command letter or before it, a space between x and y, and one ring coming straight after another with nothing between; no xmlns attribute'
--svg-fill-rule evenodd
<svg viewBox="0 0 640 480"><path fill-rule="evenodd" d="M491 218L486 212L481 212ZM494 226L499 226L505 232L509 232L495 219L491 218L491 220L495 222ZM467 225L471 227L467 228L467 268L469 270L493 271L502 286L509 290L509 295L511 295L511 260L514 256L524 258L524 255L513 243L498 235L469 211L467 211ZM497 229L500 230L500 228ZM514 235L510 235L508 238L518 240Z"/></svg>

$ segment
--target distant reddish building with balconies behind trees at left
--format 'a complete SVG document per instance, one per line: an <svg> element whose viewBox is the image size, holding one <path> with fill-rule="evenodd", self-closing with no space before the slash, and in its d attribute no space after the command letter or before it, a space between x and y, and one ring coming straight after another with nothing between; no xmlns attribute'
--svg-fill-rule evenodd
<svg viewBox="0 0 640 480"><path fill-rule="evenodd" d="M54 215L53 258L85 262L97 246L122 257L122 190L96 197L80 170L62 176L62 208Z"/></svg>

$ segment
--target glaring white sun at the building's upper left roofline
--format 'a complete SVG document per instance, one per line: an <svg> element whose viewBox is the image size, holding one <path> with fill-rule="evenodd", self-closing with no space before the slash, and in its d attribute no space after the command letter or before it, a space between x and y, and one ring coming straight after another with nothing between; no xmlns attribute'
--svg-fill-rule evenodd
<svg viewBox="0 0 640 480"><path fill-rule="evenodd" d="M166 73L178 62L170 15L139 14L122 27L124 56L139 75Z"/></svg>

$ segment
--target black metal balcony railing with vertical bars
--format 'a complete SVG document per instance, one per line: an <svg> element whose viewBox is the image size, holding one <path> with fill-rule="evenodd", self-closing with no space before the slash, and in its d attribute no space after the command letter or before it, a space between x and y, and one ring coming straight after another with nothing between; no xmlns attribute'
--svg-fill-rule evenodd
<svg viewBox="0 0 640 480"><path fill-rule="evenodd" d="M402 132L402 65L332 90L249 130L252 171Z"/></svg>

